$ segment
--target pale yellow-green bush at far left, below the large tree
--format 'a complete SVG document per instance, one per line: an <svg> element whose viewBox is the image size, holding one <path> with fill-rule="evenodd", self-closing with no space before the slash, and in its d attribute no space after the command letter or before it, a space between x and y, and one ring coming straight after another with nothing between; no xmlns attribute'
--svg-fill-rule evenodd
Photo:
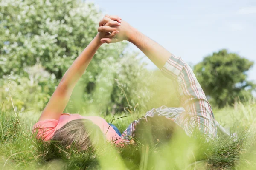
<svg viewBox="0 0 256 170"><path fill-rule="evenodd" d="M26 77L19 75L3 76L0 79L0 101L5 107L16 111L40 110L48 102L50 92L55 88L55 75L45 71L41 64L24 68Z"/></svg>

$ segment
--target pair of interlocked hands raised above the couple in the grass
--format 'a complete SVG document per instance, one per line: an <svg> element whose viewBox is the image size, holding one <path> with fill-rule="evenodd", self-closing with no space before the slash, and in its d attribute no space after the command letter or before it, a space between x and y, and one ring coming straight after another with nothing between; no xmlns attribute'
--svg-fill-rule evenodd
<svg viewBox="0 0 256 170"><path fill-rule="evenodd" d="M105 17L100 21L98 31L100 33L107 33L105 37L101 38L102 43L115 43L123 40L129 40L132 35L133 27L130 26L127 22L122 20L120 17L112 16L112 15L105 15ZM118 22L120 25L112 26L111 28L109 26L104 25L103 23L113 23ZM118 33L114 36L113 34ZM109 32L112 32L112 34L109 34Z"/></svg>

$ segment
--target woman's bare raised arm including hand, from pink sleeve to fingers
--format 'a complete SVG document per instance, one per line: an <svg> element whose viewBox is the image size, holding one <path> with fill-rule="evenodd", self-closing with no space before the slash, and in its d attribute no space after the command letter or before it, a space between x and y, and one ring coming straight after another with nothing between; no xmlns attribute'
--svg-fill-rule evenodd
<svg viewBox="0 0 256 170"><path fill-rule="evenodd" d="M90 42L90 44L84 49L84 51L76 58L70 68L66 71L58 87L52 94L47 106L44 108L39 121L46 119L56 119L58 120L67 106L70 99L72 91L78 82L79 78L84 74L87 66L89 65L91 59L96 53L97 49L102 45L100 41L104 37L113 38L119 31L116 31L115 26L119 26L121 20L117 16L112 16L112 20L108 18L103 18L99 25L103 26L108 31L100 32L96 37ZM113 21L117 20L117 21ZM111 34L109 34L111 33Z"/></svg>

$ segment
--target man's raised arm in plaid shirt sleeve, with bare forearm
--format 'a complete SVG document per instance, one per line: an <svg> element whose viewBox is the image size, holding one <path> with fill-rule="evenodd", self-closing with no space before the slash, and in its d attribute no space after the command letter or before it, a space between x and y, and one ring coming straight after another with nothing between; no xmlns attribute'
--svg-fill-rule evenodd
<svg viewBox="0 0 256 170"><path fill-rule="evenodd" d="M119 31L117 39L104 38L103 41L111 43L128 40L136 45L166 77L175 81L175 90L183 108L191 117L190 122L197 124L195 126L199 126L203 133L215 137L216 127L211 106L190 66L125 21L122 21ZM184 118L181 121L186 124L185 126L191 125L188 119Z"/></svg>

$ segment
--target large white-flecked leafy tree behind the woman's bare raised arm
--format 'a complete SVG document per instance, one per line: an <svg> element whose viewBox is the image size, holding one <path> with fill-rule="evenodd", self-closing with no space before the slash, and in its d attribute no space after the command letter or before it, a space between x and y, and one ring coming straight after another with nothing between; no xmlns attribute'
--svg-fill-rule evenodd
<svg viewBox="0 0 256 170"><path fill-rule="evenodd" d="M13 99L20 101L21 108L30 107L22 101L46 102L64 72L97 34L101 17L93 3L84 0L62 0L61 3L56 0L1 0L1 87L9 88L9 82L15 82L11 83L15 86L10 89L18 90L13 93ZM102 45L80 79L67 111L77 111L78 105L83 108L96 105L95 108L102 112L123 111L128 106L127 99L133 106L137 103L143 106L140 100L150 100L146 96L147 82L141 80L146 70L140 66L136 54L123 52L126 46L125 42ZM41 65L49 73L51 83L47 84L45 79L29 83L33 82L31 75L38 74L33 73L36 69L29 69L36 68L35 65ZM40 73L45 74L44 71ZM121 84L124 90L120 88ZM50 87L44 91L45 86ZM0 99L8 96L5 91L0 90ZM33 93L37 95L29 95ZM39 96L42 99L34 100Z"/></svg>

